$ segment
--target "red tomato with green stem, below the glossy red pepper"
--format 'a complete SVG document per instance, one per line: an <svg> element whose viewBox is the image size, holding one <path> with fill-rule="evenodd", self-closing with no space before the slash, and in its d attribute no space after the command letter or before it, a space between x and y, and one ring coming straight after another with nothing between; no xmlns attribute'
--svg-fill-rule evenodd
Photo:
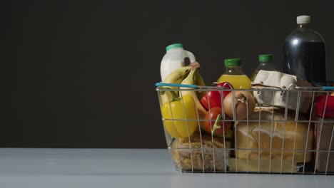
<svg viewBox="0 0 334 188"><path fill-rule="evenodd" d="M211 108L206 113L206 121L204 122L205 131L216 137L232 137L231 121L222 121L222 109Z"/></svg>

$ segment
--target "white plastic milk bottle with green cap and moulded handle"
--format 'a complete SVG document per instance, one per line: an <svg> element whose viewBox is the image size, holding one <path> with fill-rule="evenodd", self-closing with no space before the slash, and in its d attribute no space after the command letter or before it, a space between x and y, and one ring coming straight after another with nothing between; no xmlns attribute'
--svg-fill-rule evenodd
<svg viewBox="0 0 334 188"><path fill-rule="evenodd" d="M196 61L195 56L190 51L185 51L181 43L173 43L166 47L166 54L160 64L161 81L175 71L177 68L188 66L185 65L184 59L189 58L190 62Z"/></svg>

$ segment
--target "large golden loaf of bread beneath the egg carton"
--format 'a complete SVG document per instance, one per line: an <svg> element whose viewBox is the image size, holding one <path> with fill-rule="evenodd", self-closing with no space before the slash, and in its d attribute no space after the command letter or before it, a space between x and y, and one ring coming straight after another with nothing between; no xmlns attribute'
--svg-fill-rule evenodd
<svg viewBox="0 0 334 188"><path fill-rule="evenodd" d="M305 155L305 150L313 150L313 123L309 125L300 115L298 120L294 114L287 116L285 119L284 113L275 110L273 113L261 111L249 117L252 121L248 125L247 122L236 122L236 158L270 160L271 155L271 160L304 162L305 157L305 162L310 162L313 152Z"/></svg>

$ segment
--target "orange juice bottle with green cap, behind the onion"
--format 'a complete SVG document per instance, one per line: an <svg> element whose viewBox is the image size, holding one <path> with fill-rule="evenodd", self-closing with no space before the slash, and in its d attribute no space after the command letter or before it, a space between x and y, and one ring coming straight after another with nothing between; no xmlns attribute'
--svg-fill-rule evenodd
<svg viewBox="0 0 334 188"><path fill-rule="evenodd" d="M231 58L224 61L226 71L218 78L218 83L231 83L234 89L251 89L251 79L241 69L241 59Z"/></svg>

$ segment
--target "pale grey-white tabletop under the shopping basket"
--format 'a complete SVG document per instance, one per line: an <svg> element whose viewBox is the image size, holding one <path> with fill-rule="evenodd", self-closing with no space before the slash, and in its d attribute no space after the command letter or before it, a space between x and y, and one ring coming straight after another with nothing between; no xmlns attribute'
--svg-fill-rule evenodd
<svg viewBox="0 0 334 188"><path fill-rule="evenodd" d="M0 187L334 187L334 176L177 172L168 150L0 149Z"/></svg>

